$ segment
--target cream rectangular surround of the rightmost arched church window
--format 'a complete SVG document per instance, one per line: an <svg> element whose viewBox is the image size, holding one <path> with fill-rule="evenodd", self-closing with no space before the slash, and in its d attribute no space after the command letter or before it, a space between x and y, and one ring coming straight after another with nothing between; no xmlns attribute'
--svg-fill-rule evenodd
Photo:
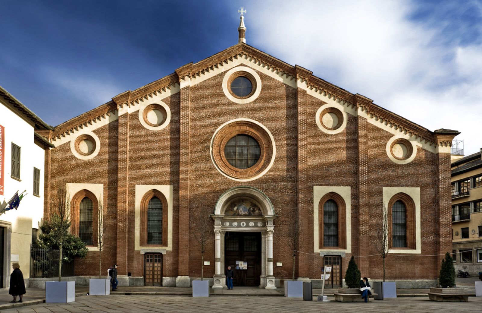
<svg viewBox="0 0 482 313"><path fill-rule="evenodd" d="M390 199L397 193L407 194L415 203L415 249L390 249L388 253L420 254L421 253L421 228L420 228L420 187L383 187L383 203L388 206ZM391 210L385 207L385 210ZM391 221L389 221L391 223Z"/></svg>

